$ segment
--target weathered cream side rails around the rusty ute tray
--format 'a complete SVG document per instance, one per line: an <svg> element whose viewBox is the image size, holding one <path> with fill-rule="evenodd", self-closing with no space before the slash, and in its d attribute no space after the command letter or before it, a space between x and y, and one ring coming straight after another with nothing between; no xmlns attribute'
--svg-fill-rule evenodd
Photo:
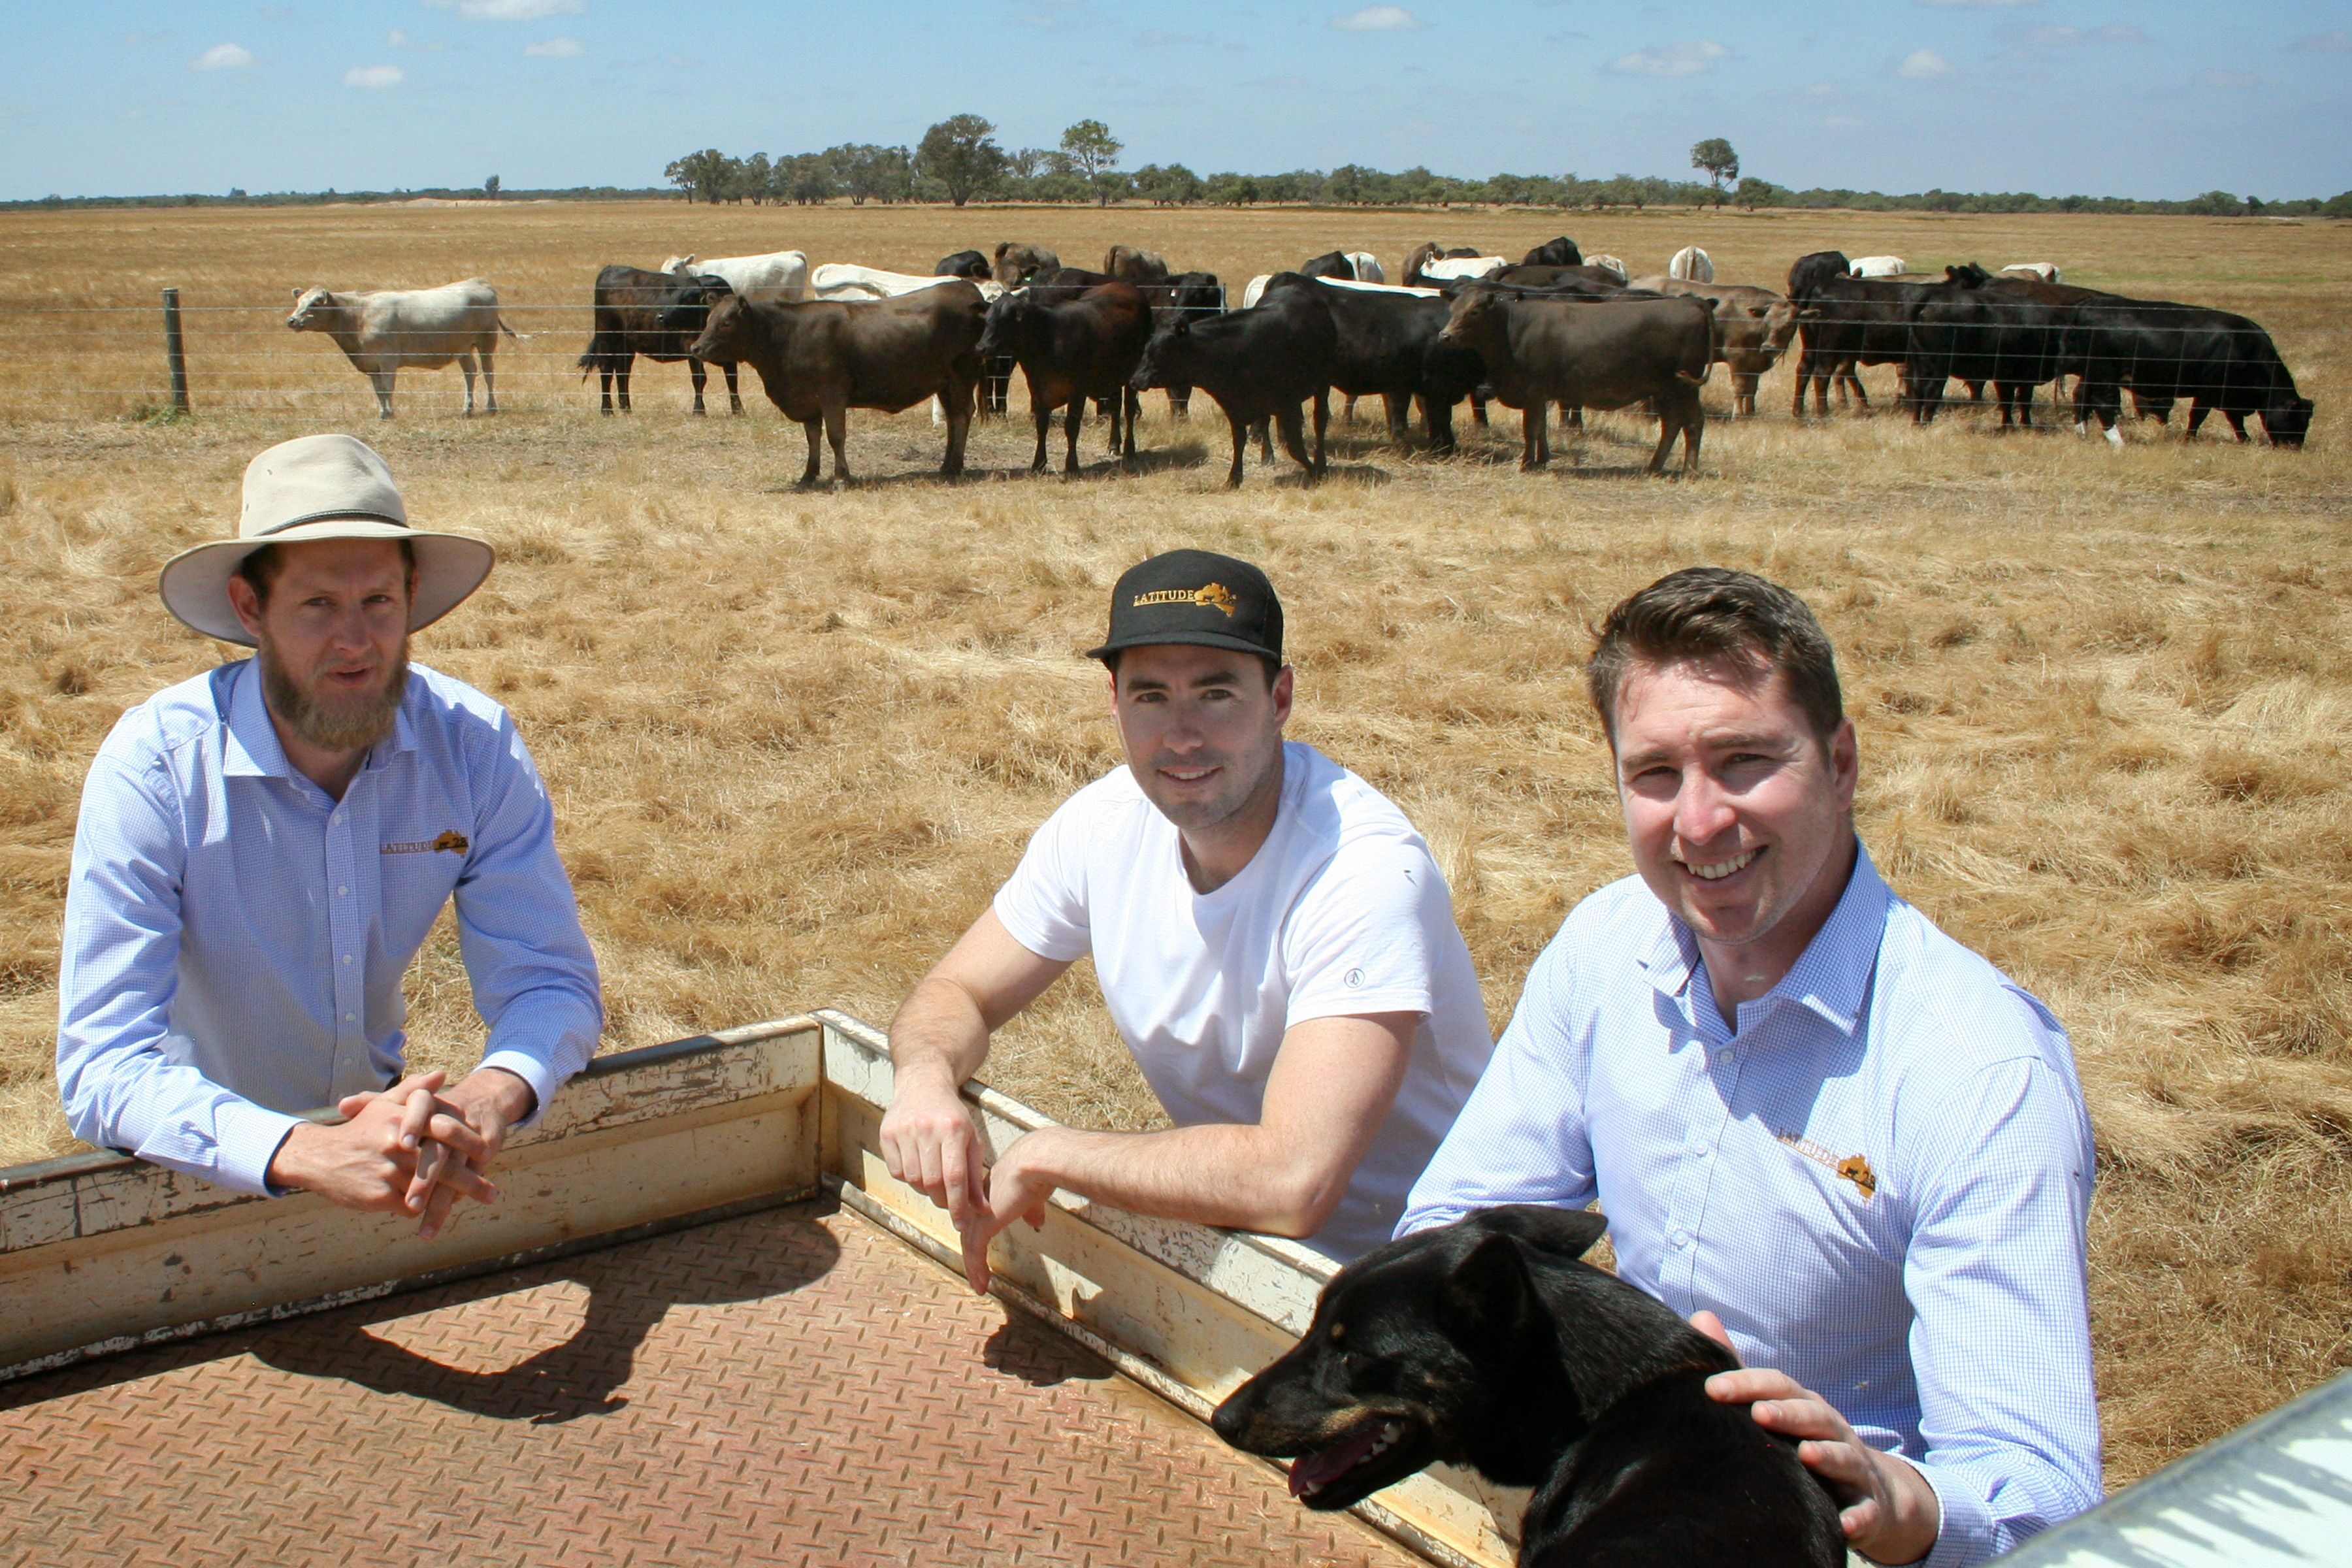
<svg viewBox="0 0 2352 1568"><path fill-rule="evenodd" d="M0 1380L517 1267L833 1192L962 1272L948 1215L880 1152L880 1030L818 1011L595 1060L508 1143L503 1201L435 1241L402 1215L259 1199L122 1154L0 1171ZM967 1088L990 1152L1047 1119ZM997 1295L1204 1418L1305 1328L1334 1265L1270 1237L1058 1194L990 1248ZM1449 1568L1512 1559L1524 1495L1444 1467L1357 1512Z"/></svg>

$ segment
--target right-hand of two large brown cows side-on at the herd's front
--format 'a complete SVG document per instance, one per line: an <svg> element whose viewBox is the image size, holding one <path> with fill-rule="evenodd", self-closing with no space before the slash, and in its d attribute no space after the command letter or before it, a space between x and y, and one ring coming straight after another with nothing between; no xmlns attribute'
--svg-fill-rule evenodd
<svg viewBox="0 0 2352 1568"><path fill-rule="evenodd" d="M1454 296L1444 336L1477 350L1494 395L1519 409L1522 470L1552 461L1545 430L1552 402L1623 409L1644 400L1658 411L1649 473L1665 473L1677 435L1684 473L1698 468L1708 428L1698 388L1715 367L1715 301L1534 299L1472 287Z"/></svg>

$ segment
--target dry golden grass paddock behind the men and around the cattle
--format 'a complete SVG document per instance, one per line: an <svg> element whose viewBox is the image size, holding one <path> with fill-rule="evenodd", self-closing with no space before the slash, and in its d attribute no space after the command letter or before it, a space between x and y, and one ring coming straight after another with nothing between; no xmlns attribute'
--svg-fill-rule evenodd
<svg viewBox="0 0 2352 1568"><path fill-rule="evenodd" d="M1080 482L1030 480L1016 416L978 428L976 477L948 487L922 411L856 414L868 482L809 494L800 433L757 397L694 421L684 371L642 367L640 411L604 421L569 369L595 268L682 249L927 270L1002 237L1075 263L1129 240L1240 282L1331 247L1517 254L1562 228L1637 270L1698 242L1726 282L1837 244L2056 261L2244 310L2319 400L2312 447L2138 425L2110 451L1999 437L1973 411L1795 425L1783 369L1766 418L1710 423L1696 482L1639 477L1646 421L1611 416L1545 475L1515 473L1501 428L1430 461L1367 423L1336 428L1327 484L1251 458L1225 494L1214 404L1176 425L1150 395L1131 473L1089 425ZM809 1001L889 1016L1025 832L1115 764L1077 649L1112 576L1174 545L1272 571L1294 733L1428 832L1501 1025L1559 917L1628 870L1581 698L1588 621L1672 567L1764 571L1837 639L1879 865L2074 1032L2110 1483L2352 1363L2340 228L510 205L7 214L0 235L0 1161L73 1147L49 1056L87 759L125 705L221 658L155 604L155 567L233 527L259 447L358 430L421 522L501 550L416 651L510 703L536 748L604 961L607 1048ZM435 371L405 376L379 428L334 348L278 324L299 284L475 273L543 334L501 357L494 421L454 418L456 374ZM148 416L165 284L191 308L198 416L179 423ZM463 1067L480 1023L447 929L409 992L414 1051ZM1065 1119L1155 1119L1084 976L1004 1034L990 1077Z"/></svg>

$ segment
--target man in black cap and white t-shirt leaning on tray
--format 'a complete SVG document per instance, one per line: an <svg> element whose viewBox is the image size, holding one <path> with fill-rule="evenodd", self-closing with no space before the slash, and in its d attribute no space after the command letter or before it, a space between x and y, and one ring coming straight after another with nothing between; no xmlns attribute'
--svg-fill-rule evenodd
<svg viewBox="0 0 2352 1568"><path fill-rule="evenodd" d="M988 1239L1056 1187L1355 1258L1494 1051L1444 877L1385 797L1282 741L1282 604L1249 562L1134 567L1089 656L1127 766L1047 818L891 1020L889 1168L946 1204L976 1291ZM1051 1126L988 1171L957 1086L1087 954L1176 1128Z"/></svg>

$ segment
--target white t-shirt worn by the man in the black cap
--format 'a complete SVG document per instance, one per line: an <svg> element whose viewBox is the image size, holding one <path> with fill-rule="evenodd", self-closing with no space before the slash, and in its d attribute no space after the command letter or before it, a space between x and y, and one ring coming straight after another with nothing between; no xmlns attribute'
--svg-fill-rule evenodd
<svg viewBox="0 0 2352 1568"><path fill-rule="evenodd" d="M1296 1023L1423 1016L1395 1107L1308 1239L1331 1258L1388 1241L1494 1053L1430 846L1312 745L1282 748L1275 827L1214 893L1192 891L1176 825L1117 769L1044 820L995 910L1037 957L1094 954L1110 1020L1178 1126L1258 1121Z"/></svg>

